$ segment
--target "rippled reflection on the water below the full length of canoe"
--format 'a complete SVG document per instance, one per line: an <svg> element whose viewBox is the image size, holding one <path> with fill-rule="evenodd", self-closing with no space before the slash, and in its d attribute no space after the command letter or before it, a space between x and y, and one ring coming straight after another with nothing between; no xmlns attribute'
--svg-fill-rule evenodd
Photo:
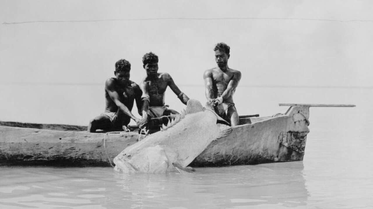
<svg viewBox="0 0 373 209"><path fill-rule="evenodd" d="M305 206L303 163L123 174L112 168L2 167L0 208Z"/></svg>

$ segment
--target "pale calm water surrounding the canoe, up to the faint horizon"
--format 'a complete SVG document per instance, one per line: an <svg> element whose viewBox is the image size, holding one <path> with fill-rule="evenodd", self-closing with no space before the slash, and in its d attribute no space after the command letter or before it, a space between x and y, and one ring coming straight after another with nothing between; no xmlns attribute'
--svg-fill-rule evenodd
<svg viewBox="0 0 373 209"><path fill-rule="evenodd" d="M2 86L0 98L8 99L0 120L85 124L103 109L103 96L94 93L101 86L50 86L49 98L43 88ZM182 90L193 95L201 88ZM11 97L25 91L22 99ZM285 112L277 103L357 107L311 107L302 162L197 168L183 175L0 167L0 208L373 208L372 95L372 89L242 87L235 94L241 115ZM176 96L166 96L176 110L183 107ZM203 100L203 92L194 98Z"/></svg>

